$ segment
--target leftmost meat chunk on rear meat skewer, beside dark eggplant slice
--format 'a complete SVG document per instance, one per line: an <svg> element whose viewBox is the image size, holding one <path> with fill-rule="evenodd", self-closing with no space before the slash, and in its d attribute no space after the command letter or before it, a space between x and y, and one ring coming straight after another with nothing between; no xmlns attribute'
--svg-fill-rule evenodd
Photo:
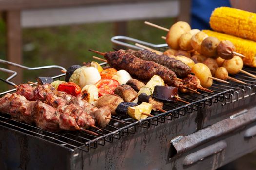
<svg viewBox="0 0 256 170"><path fill-rule="evenodd" d="M25 96L25 98L29 101L34 100L34 88L29 84L20 84L16 89L16 94L21 96Z"/></svg>

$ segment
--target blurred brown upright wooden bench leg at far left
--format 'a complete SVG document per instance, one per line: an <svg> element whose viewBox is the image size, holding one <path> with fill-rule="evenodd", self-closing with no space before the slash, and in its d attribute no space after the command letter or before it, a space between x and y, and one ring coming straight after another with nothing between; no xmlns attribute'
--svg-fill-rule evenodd
<svg viewBox="0 0 256 170"><path fill-rule="evenodd" d="M7 60L22 64L22 31L20 25L20 11L6 12L7 30ZM16 84L22 82L23 70L21 68L9 66L8 69L16 71L18 75L12 79Z"/></svg>

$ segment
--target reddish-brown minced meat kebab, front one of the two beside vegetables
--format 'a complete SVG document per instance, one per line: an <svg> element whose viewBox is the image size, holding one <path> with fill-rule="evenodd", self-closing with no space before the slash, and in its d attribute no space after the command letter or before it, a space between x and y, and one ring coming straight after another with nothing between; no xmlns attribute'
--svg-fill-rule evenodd
<svg viewBox="0 0 256 170"><path fill-rule="evenodd" d="M149 81L154 75L158 75L167 85L177 86L182 84L175 79L176 74L172 70L153 61L142 60L133 54L119 50L106 52L104 57L112 68L124 69L139 79Z"/></svg>

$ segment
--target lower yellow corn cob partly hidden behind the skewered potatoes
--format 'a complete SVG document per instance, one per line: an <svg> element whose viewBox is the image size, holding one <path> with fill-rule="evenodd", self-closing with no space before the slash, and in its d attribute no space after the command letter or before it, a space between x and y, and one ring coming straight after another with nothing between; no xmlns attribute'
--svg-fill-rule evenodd
<svg viewBox="0 0 256 170"><path fill-rule="evenodd" d="M203 30L203 32L205 32L208 36L216 37L219 40L231 41L236 47L236 52L246 56L243 58L244 64L251 67L256 67L256 42L211 30Z"/></svg>

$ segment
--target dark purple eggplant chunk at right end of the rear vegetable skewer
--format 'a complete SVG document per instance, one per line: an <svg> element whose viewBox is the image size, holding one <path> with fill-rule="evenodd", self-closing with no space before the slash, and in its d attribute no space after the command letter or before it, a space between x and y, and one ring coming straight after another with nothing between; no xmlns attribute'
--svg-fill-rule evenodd
<svg viewBox="0 0 256 170"><path fill-rule="evenodd" d="M176 96L177 94L178 94L177 87L157 85L155 86L152 97L160 101L176 102L176 98L174 96Z"/></svg>

